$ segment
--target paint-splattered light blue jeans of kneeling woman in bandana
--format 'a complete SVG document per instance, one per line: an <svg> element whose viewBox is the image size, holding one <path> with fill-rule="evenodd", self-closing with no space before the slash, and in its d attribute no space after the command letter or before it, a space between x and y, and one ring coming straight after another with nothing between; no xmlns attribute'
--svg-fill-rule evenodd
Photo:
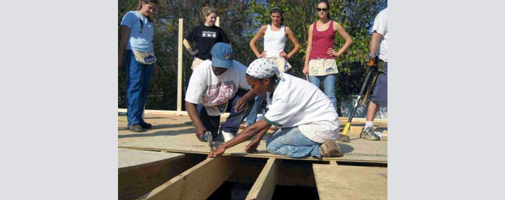
<svg viewBox="0 0 505 200"><path fill-rule="evenodd" d="M321 143L307 138L298 127L281 128L267 139L267 150L275 155L291 158L321 158Z"/></svg>

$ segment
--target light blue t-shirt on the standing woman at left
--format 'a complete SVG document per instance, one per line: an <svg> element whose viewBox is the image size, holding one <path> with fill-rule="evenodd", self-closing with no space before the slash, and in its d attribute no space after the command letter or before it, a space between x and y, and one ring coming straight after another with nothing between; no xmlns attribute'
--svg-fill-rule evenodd
<svg viewBox="0 0 505 200"><path fill-rule="evenodd" d="M153 22L149 22L147 17L143 16L138 11L130 11L123 17L121 26L130 28L126 49L139 52L154 52Z"/></svg>

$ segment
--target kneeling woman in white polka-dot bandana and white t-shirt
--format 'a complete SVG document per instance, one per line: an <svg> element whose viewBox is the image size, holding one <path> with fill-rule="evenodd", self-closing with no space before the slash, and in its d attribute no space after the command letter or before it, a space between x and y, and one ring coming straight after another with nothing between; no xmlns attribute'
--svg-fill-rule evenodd
<svg viewBox="0 0 505 200"><path fill-rule="evenodd" d="M246 71L247 83L258 95L267 95L269 111L255 124L209 153L222 155L230 148L253 136L246 147L248 153L257 152L261 138L272 125L281 127L267 139L267 150L275 155L291 158L343 156L338 144L338 114L326 96L314 84L279 72L275 63L261 58L252 62Z"/></svg>

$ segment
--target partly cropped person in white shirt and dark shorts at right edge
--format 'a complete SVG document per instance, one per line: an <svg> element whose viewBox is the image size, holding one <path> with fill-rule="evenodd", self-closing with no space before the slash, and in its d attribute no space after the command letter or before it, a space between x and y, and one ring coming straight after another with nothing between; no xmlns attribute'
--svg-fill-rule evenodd
<svg viewBox="0 0 505 200"><path fill-rule="evenodd" d="M384 73L380 73L375 82L373 94L370 96L370 103L368 103L365 128L360 134L361 138L369 140L381 140L382 133L373 129L374 119L379 107L387 107L387 8L377 14L372 27L370 57L368 59L374 60L376 56L379 56L379 62L384 62L382 70Z"/></svg>

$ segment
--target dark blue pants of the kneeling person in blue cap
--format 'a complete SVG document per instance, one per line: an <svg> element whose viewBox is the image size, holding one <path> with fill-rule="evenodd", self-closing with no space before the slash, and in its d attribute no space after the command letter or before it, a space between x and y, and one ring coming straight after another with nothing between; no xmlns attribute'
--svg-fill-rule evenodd
<svg viewBox="0 0 505 200"><path fill-rule="evenodd" d="M221 126L221 131L225 131L233 135L237 134L240 123L242 123L245 117L249 115L252 104L254 104L254 100L251 99L247 102L247 109L235 112L235 109L233 109L233 107L235 107L238 99L244 96L246 93L247 90L239 88L237 94L228 101L228 108L231 108L230 115L228 118L226 118L226 121ZM196 112L198 113L198 117L200 118L201 123L204 124L205 129L207 129L207 131L211 131L212 139L216 139L219 134L218 129L221 116L209 116L209 114L207 114L207 109L205 109L205 106L202 104L198 104L196 106Z"/></svg>

